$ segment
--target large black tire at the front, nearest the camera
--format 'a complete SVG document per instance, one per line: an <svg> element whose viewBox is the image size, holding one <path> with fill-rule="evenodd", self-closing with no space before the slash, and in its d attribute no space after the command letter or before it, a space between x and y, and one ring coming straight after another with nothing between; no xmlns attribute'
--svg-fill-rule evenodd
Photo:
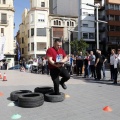
<svg viewBox="0 0 120 120"><path fill-rule="evenodd" d="M42 93L26 93L18 97L18 106L33 108L43 105L44 95Z"/></svg>

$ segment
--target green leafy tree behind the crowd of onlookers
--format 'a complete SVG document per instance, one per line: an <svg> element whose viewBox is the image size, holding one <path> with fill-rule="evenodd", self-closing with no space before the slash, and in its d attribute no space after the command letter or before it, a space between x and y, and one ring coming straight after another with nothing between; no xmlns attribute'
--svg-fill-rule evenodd
<svg viewBox="0 0 120 120"><path fill-rule="evenodd" d="M78 54L79 51L82 51L84 54L86 49L89 47L89 45L83 39L73 40L70 42L70 45L71 45L72 51L74 51L76 54Z"/></svg>

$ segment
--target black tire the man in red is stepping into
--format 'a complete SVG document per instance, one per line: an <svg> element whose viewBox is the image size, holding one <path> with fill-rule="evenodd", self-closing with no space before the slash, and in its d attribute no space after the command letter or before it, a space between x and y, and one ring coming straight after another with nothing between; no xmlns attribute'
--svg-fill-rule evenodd
<svg viewBox="0 0 120 120"><path fill-rule="evenodd" d="M47 102L62 102L65 99L65 94L60 92L60 95L55 95L54 92L45 94Z"/></svg>

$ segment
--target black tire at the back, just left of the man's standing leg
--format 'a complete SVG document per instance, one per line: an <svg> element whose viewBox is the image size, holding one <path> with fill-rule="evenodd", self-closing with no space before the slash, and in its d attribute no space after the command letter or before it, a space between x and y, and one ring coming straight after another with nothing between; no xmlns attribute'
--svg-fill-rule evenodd
<svg viewBox="0 0 120 120"><path fill-rule="evenodd" d="M47 86L45 86L45 87L36 87L34 89L34 92L46 94L46 93L54 92L54 88L53 87L47 87Z"/></svg>

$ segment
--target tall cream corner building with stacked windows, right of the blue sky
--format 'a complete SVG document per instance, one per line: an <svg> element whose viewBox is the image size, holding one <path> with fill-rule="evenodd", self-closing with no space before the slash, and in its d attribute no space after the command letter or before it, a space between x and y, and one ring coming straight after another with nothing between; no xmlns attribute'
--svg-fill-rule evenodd
<svg viewBox="0 0 120 120"><path fill-rule="evenodd" d="M30 0L30 10L25 9L20 25L21 56L37 58L46 54L49 47L49 1Z"/></svg>

